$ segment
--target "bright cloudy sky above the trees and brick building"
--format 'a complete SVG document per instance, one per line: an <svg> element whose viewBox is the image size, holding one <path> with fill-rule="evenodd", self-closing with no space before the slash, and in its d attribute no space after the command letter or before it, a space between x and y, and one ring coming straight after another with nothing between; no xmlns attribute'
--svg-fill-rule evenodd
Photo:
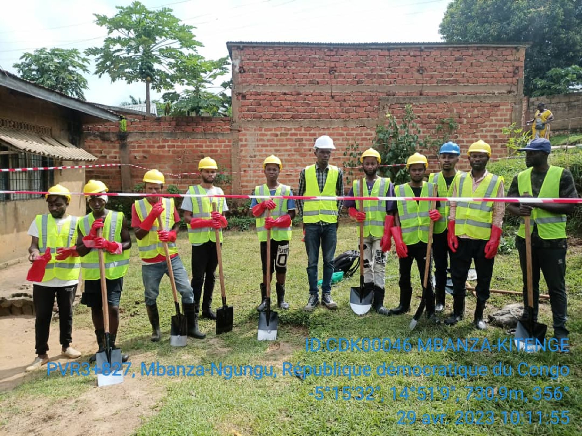
<svg viewBox="0 0 582 436"><path fill-rule="evenodd" d="M166 6L195 26L198 52L207 59L228 56L226 41L434 42L450 0L143 0L150 9ZM93 13L115 15L129 0L18 0L3 2L0 68L41 47L100 46L107 31ZM357 5L357 6L356 6ZM93 72L93 65L90 66ZM117 105L129 95L145 97L144 85L87 77L88 101ZM152 98L158 97L155 93Z"/></svg>

